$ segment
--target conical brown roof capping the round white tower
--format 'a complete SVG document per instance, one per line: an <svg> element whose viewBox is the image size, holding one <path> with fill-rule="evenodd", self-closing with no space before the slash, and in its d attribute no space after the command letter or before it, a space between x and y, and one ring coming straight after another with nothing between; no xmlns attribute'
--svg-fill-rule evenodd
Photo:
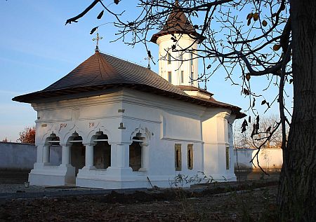
<svg viewBox="0 0 316 222"><path fill-rule="evenodd" d="M187 20L185 13L179 8L178 1L173 6L173 9L166 20L166 24L162 30L152 36L153 43L157 42L157 39L160 36L167 34L189 34L191 36L198 37L200 41L204 39L204 36L201 36L195 31L195 28L192 26L191 22Z"/></svg>

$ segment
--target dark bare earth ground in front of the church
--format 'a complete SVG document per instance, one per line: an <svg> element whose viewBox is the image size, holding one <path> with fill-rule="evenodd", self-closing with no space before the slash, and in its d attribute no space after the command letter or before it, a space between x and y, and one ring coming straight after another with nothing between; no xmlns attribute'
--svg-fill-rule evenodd
<svg viewBox="0 0 316 222"><path fill-rule="evenodd" d="M0 189L0 221L276 221L275 180L164 190Z"/></svg>

